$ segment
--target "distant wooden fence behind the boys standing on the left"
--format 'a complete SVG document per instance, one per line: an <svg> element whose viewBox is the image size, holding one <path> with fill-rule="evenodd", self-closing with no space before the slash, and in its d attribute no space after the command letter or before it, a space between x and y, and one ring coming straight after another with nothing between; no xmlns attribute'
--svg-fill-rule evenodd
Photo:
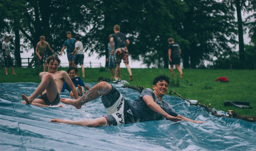
<svg viewBox="0 0 256 151"><path fill-rule="evenodd" d="M23 68L28 68L28 64L33 58L21 58L21 67ZM27 62L22 62L22 60L27 60ZM23 65L26 64L26 65ZM61 67L68 67L69 63L62 63L60 62ZM32 64L32 67L35 67L35 64ZM100 68L101 63L100 62L84 62L84 67L85 68Z"/></svg>

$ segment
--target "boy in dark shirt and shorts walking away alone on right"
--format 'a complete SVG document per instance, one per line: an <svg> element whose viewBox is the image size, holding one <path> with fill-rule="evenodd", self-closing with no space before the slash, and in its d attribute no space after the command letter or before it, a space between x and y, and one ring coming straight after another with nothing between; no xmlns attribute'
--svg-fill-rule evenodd
<svg viewBox="0 0 256 151"><path fill-rule="evenodd" d="M180 45L177 42L174 42L173 38L169 38L168 42L168 56L172 78L174 78L173 64L176 65L177 70L180 72L180 78L183 78L183 73L180 68Z"/></svg>

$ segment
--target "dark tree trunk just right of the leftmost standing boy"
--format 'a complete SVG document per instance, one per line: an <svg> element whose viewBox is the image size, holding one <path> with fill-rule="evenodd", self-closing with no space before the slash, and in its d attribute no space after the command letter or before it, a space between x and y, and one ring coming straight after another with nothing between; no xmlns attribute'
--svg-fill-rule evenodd
<svg viewBox="0 0 256 151"><path fill-rule="evenodd" d="M21 67L21 57L20 57L20 31L19 28L16 28L14 30L15 33L15 52L14 56L16 59L16 65L17 67Z"/></svg>

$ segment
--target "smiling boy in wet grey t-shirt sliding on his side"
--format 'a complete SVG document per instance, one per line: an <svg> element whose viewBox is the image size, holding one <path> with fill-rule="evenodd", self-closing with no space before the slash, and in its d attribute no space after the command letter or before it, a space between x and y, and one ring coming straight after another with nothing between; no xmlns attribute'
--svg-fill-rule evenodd
<svg viewBox="0 0 256 151"><path fill-rule="evenodd" d="M168 91L169 77L160 75L153 81L153 90L144 89L141 94L132 102L124 100L122 94L107 82L100 82L89 89L82 97L77 100L61 98L61 102L70 104L80 109L86 102L101 97L101 101L108 111L108 115L80 121L52 119L51 122L68 123L83 125L88 127L100 127L107 125L123 125L134 122L143 122L149 120L167 120L190 121L194 123L205 123L203 121L194 121L187 117L177 114L171 105L162 100Z"/></svg>

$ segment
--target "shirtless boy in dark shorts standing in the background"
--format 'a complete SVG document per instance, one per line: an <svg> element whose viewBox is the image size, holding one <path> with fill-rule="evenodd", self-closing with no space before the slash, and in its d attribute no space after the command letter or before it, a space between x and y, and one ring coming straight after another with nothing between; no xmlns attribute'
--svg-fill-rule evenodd
<svg viewBox="0 0 256 151"><path fill-rule="evenodd" d="M49 43L45 41L45 37L44 36L40 36L40 42L38 42L36 44L36 55L38 56L39 60L40 60L40 65L41 65L41 69L42 72L46 71L46 60L48 57L46 48L48 48L49 50L52 51L52 54L54 53L54 51L52 50L52 48L50 47Z"/></svg>

